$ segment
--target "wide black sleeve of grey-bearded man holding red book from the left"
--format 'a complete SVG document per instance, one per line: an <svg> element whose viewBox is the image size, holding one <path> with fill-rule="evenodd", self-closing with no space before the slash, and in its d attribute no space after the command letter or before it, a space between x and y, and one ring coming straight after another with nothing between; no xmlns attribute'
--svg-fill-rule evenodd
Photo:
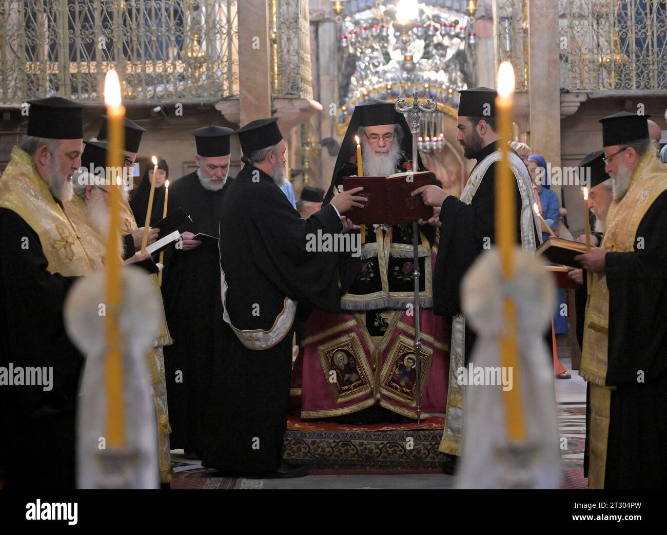
<svg viewBox="0 0 667 535"><path fill-rule="evenodd" d="M342 223L333 205L301 219L277 188L258 188L251 241L254 263L286 296L330 312L340 310L339 254L307 250L309 238L336 235ZM267 209L267 207L270 207Z"/></svg>

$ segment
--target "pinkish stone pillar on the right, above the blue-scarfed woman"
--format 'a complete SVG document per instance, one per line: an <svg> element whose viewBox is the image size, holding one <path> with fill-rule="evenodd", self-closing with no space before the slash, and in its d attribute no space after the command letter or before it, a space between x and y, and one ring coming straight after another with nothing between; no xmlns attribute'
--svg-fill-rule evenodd
<svg viewBox="0 0 667 535"><path fill-rule="evenodd" d="M558 2L528 0L530 149L560 166ZM560 198L560 185L552 185Z"/></svg>

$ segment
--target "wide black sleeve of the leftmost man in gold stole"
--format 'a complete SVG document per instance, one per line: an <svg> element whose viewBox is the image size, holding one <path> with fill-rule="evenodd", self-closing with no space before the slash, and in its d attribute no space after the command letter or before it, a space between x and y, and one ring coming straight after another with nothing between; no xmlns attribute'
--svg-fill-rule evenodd
<svg viewBox="0 0 667 535"><path fill-rule="evenodd" d="M10 406L29 417L71 408L83 357L65 334L63 304L76 278L47 271L37 233L9 209L0 209L0 251L1 366L53 367L51 390L15 387Z"/></svg>

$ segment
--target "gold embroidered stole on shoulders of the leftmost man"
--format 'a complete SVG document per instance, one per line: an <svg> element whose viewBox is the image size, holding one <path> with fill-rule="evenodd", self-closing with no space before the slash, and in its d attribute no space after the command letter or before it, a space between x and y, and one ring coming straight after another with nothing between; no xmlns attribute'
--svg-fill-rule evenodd
<svg viewBox="0 0 667 535"><path fill-rule="evenodd" d="M51 195L31 155L19 147L11 150L0 179L0 207L17 213L39 235L49 272L83 276L91 270L75 225Z"/></svg>

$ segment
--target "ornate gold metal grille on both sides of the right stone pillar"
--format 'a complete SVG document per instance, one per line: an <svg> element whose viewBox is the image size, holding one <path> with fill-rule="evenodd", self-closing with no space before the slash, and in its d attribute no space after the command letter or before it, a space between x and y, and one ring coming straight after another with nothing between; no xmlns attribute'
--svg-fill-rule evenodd
<svg viewBox="0 0 667 535"><path fill-rule="evenodd" d="M558 25L561 89L667 91L665 0L558 0ZM494 0L494 37L527 89L528 0Z"/></svg>

